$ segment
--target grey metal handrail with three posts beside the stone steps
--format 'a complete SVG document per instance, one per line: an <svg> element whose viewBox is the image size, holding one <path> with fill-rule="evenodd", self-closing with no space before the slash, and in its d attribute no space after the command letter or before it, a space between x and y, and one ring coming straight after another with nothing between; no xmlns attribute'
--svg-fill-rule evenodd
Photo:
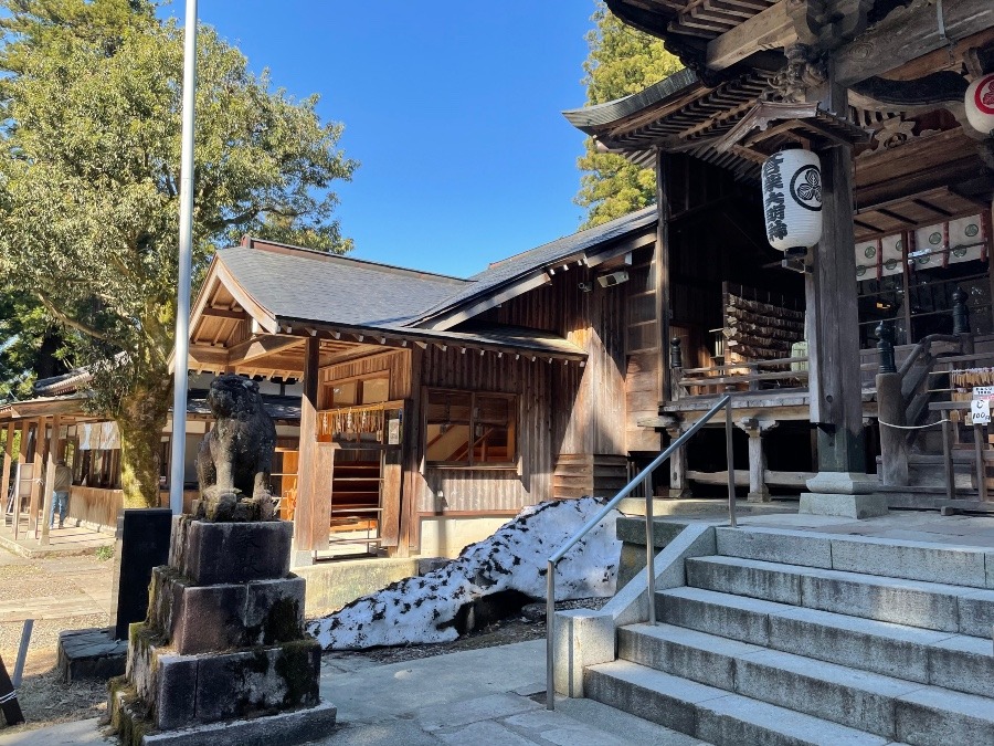
<svg viewBox="0 0 994 746"><path fill-rule="evenodd" d="M638 474L628 482L621 492L607 501L598 514L588 521L583 526L573 534L570 539L563 544L559 550L549 557L546 568L546 708L556 708L556 685L553 682L556 669L556 653L552 644L553 624L556 621L556 566L565 556L565 554L577 545L594 526L601 523L604 517L614 509L614 507L631 495L635 487L639 484L644 485L645 492L645 565L648 572L648 623L656 623L656 605L653 599L653 586L655 585L655 554L653 542L653 487L652 476L660 465L666 463L669 458L677 452L694 434L700 430L715 414L722 408L727 408L725 412L725 455L728 459L728 519L729 525L734 528L738 526L736 522L736 470L732 463L732 416L731 416L731 395L726 393L718 402L711 407L697 422L695 422L683 435L670 443L665 451L653 459L653 462L643 469Z"/></svg>

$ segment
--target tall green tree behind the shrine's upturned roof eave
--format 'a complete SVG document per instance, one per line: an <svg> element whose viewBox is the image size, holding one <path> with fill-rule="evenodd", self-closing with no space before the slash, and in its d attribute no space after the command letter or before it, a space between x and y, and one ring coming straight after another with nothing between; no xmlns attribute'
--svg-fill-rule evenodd
<svg viewBox="0 0 994 746"><path fill-rule="evenodd" d="M663 42L625 25L598 3L591 17L594 28L586 34L590 54L583 63L586 105L622 98L677 72L679 60ZM613 153L598 153L592 137L578 160L583 175L574 201L586 208L583 228L600 225L656 201L656 176Z"/></svg>

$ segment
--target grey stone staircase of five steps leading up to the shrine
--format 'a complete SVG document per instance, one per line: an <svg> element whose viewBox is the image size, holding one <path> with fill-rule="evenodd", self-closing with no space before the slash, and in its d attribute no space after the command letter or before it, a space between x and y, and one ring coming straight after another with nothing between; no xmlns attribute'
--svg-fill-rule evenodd
<svg viewBox="0 0 994 746"><path fill-rule="evenodd" d="M994 549L716 534L585 696L718 746L994 746Z"/></svg>

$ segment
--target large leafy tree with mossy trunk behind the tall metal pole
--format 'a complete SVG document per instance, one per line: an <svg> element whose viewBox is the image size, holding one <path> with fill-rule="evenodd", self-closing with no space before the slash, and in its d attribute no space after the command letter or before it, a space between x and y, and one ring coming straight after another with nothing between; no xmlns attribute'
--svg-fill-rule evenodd
<svg viewBox="0 0 994 746"><path fill-rule="evenodd" d="M155 4L0 0L0 276L73 333L92 406L120 428L129 506L158 503L176 322L183 40ZM347 250L341 125L204 27L198 75L194 272L245 232Z"/></svg>

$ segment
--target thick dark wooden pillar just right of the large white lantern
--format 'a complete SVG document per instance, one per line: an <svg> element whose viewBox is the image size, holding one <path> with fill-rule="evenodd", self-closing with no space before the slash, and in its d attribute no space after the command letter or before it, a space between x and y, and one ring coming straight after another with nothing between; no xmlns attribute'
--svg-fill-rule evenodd
<svg viewBox="0 0 994 746"><path fill-rule="evenodd" d="M845 111L845 92L834 99ZM811 421L818 430L819 472L866 472L856 256L853 252L853 153L822 150L822 240L805 275Z"/></svg>

